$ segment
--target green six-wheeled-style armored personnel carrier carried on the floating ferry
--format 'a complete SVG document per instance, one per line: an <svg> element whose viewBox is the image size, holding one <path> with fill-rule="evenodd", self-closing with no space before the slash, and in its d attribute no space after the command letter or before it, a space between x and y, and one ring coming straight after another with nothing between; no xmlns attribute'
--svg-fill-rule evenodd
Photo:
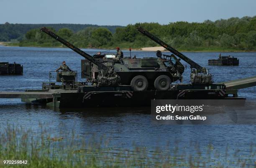
<svg viewBox="0 0 256 168"><path fill-rule="evenodd" d="M95 56L97 60L108 67L113 67L120 76L121 85L130 85L133 90L168 90L172 82L182 81L184 66L173 55L162 57L160 51L157 58L131 58L125 57L120 61L106 58L105 55ZM81 60L82 78L95 81L99 74L98 66L91 64L87 59Z"/></svg>

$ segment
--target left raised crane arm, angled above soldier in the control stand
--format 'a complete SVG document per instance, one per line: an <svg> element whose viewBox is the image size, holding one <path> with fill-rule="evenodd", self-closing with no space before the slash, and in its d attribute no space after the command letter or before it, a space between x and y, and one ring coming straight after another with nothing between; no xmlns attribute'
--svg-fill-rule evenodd
<svg viewBox="0 0 256 168"><path fill-rule="evenodd" d="M79 48L75 47L74 45L72 45L71 43L67 42L66 40L64 40L63 38L59 37L58 35L56 35L55 33L53 33L52 31L48 30L46 27L41 28L41 31L43 31L44 33L48 34L49 36L51 36L52 38L54 38L55 40L61 42L62 44L64 44L65 46L67 46L68 48L72 49L73 51L75 51L76 53L80 54L82 57L84 57L85 59L88 59L89 61L91 61L93 64L96 64L99 69L102 69L104 71L108 70L108 67L105 66L104 64L102 64L100 61L97 61L96 59L94 59L92 56L90 56L88 53L85 53L84 51L80 50Z"/></svg>

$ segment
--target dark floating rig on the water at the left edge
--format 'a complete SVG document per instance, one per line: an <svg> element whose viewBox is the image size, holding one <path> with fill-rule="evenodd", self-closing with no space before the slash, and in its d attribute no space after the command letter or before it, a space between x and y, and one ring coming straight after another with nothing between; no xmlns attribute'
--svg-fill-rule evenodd
<svg viewBox="0 0 256 168"><path fill-rule="evenodd" d="M9 64L9 62L0 62L0 75L22 75L23 66L20 64Z"/></svg>

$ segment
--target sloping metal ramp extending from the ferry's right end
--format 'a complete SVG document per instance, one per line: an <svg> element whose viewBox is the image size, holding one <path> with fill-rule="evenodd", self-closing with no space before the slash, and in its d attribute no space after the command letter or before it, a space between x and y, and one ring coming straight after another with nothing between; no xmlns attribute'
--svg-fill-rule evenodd
<svg viewBox="0 0 256 168"><path fill-rule="evenodd" d="M217 84L225 84L227 90L237 90L237 89L244 89L248 87L254 87L256 86L256 76L236 79L233 81L219 82Z"/></svg>

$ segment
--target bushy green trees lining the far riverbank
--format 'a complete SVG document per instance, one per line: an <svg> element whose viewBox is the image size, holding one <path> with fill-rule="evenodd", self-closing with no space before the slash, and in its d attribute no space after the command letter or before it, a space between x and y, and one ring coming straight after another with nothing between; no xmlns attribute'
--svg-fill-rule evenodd
<svg viewBox="0 0 256 168"><path fill-rule="evenodd" d="M80 31L70 28L56 30L59 36L80 48L141 48L158 46L146 36L136 31L138 26L153 33L164 42L182 50L241 50L256 51L256 16L229 18L203 23L174 22L136 23L116 27L111 32L104 27L87 27ZM32 29L20 40L20 46L61 46L39 29Z"/></svg>

